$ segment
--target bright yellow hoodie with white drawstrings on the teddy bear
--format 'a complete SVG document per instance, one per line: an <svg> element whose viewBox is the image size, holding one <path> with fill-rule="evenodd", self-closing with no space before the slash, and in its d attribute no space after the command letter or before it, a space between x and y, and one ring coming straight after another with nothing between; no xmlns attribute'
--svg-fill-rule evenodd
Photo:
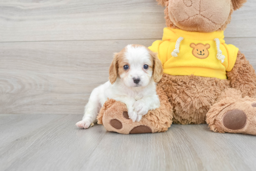
<svg viewBox="0 0 256 171"><path fill-rule="evenodd" d="M238 48L225 44L223 31L187 32L164 28L162 40L148 47L158 53L163 71L169 75L195 75L227 79L235 65Z"/></svg>

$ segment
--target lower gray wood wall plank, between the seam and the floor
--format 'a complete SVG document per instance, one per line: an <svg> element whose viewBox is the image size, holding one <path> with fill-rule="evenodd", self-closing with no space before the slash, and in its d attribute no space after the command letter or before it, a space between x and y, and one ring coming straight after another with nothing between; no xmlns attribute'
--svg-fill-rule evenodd
<svg viewBox="0 0 256 171"><path fill-rule="evenodd" d="M0 113L82 114L113 53L155 39L0 43ZM228 38L256 68L256 38Z"/></svg>

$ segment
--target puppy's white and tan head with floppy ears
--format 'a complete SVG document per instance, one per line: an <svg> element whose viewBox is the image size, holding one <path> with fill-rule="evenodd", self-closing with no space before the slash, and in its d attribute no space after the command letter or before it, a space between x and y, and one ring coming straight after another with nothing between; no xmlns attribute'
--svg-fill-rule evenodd
<svg viewBox="0 0 256 171"><path fill-rule="evenodd" d="M115 53L109 68L109 80L113 84L117 77L128 87L145 87L151 81L162 78L162 63L157 54L142 45L128 45Z"/></svg>

